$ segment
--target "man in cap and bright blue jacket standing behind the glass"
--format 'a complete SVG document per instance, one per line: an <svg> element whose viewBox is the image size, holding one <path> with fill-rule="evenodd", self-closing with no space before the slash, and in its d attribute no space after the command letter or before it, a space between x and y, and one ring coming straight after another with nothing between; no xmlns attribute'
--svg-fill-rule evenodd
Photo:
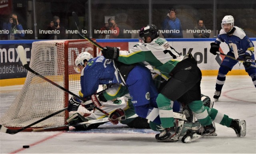
<svg viewBox="0 0 256 154"><path fill-rule="evenodd" d="M183 38L180 19L176 18L176 10L169 9L169 13L162 23L162 32L164 38Z"/></svg>

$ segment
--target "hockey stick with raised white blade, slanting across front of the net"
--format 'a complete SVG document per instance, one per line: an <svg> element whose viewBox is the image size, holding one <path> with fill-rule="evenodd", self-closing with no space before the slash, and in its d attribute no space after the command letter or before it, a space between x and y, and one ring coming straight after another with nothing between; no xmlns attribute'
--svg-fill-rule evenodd
<svg viewBox="0 0 256 154"><path fill-rule="evenodd" d="M42 79L44 79L44 80L50 82L50 83L53 84L54 86L56 86L56 87L60 88L61 90L63 90L64 92L67 92L68 94L71 94L72 96L78 98L79 100L84 101L84 99L83 99L82 97L77 96L77 95L74 94L73 92L70 92L69 90L65 89L64 87L62 87L62 86L60 86L60 85L58 85L58 84L56 84L56 83L53 82L52 80L49 80L48 78L46 78L46 77L44 77L44 76L38 74L38 73L35 72L34 70L32 70L32 69L28 66L28 64L27 64L27 62L26 62L26 53L25 53L25 54L24 54L24 53L25 53L25 52L24 52L23 46L18 46L18 54L19 54L19 56L20 56L20 61L22 62L22 65L24 64L24 65L23 65L24 68L26 68L28 71L32 72L32 73L35 74L36 76L39 76L40 78L42 78ZM98 108L98 107L96 107L96 106L95 106L95 108L96 108L97 110L99 110L100 112L106 114L106 116L109 116L108 112L106 112L106 111L104 111L104 110L102 110L102 109L100 109L100 108Z"/></svg>

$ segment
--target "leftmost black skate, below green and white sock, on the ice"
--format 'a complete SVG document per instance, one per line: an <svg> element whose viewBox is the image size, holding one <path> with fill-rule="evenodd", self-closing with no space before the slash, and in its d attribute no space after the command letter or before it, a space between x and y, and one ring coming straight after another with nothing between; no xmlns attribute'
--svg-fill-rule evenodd
<svg viewBox="0 0 256 154"><path fill-rule="evenodd" d="M162 142L178 141L183 125L184 120L174 119L174 127L164 128L160 134L156 134L156 140Z"/></svg>

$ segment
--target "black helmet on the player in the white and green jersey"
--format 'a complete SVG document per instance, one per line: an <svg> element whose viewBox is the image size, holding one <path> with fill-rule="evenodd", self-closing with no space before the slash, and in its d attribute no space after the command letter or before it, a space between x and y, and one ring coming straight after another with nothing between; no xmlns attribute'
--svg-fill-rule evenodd
<svg viewBox="0 0 256 154"><path fill-rule="evenodd" d="M140 33L139 33L139 39L142 40L143 42L145 41L146 37L150 37L152 40L154 40L155 38L159 37L159 31L158 28L156 27L156 25L154 24L149 24L145 27L142 27L140 29Z"/></svg>

